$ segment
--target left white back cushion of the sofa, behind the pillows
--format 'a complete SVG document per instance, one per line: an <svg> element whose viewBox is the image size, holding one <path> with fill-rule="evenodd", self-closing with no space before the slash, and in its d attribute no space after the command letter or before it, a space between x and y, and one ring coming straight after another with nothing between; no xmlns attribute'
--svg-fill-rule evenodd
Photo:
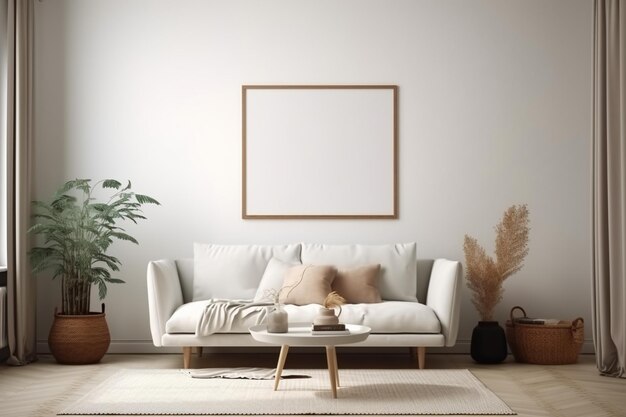
<svg viewBox="0 0 626 417"><path fill-rule="evenodd" d="M193 301L252 299L273 257L300 263L300 245L214 245L194 243Z"/></svg>

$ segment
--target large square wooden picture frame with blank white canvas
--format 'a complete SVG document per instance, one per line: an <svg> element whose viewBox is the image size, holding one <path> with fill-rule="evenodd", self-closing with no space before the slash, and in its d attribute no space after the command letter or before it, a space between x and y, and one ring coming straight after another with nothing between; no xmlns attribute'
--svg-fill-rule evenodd
<svg viewBox="0 0 626 417"><path fill-rule="evenodd" d="M242 218L398 218L397 92L242 86Z"/></svg>

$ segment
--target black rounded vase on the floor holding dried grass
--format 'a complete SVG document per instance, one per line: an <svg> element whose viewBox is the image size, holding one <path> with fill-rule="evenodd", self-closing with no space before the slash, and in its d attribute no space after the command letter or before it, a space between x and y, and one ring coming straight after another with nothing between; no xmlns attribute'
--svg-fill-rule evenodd
<svg viewBox="0 0 626 417"><path fill-rule="evenodd" d="M479 321L472 332L472 359L478 363L500 363L506 354L504 329L497 321Z"/></svg>

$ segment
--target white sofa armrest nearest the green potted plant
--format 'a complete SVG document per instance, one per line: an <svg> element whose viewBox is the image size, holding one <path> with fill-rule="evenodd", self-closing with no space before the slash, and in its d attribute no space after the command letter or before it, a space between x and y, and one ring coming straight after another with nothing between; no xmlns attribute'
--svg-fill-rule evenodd
<svg viewBox="0 0 626 417"><path fill-rule="evenodd" d="M154 346L161 346L165 323L183 304L183 292L176 262L159 260L148 263L148 309Z"/></svg>

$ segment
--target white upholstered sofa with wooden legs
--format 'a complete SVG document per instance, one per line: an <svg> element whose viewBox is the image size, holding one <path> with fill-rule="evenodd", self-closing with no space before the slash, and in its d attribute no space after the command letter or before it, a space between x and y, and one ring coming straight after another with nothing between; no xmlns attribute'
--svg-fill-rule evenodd
<svg viewBox="0 0 626 417"><path fill-rule="evenodd" d="M208 258L200 258L207 253ZM351 347L412 347L416 349L419 368L424 368L427 347L453 346L456 343L462 280L459 262L418 260L415 244L303 243L283 246L196 244L195 261L163 259L150 262L147 271L148 304L154 345L181 347L185 368L189 367L192 347L201 352L204 346L263 346L252 339L245 323L233 326L226 333L208 336L196 335L195 331L208 304L206 298L223 298L219 291L212 292L207 286L222 287L220 291L229 295L228 298L251 299L265 267L274 256L292 257L291 261L303 264L338 267L381 264L383 302L343 306L342 322L363 324L372 329L367 340ZM201 260L205 262L204 267L208 265L209 272L202 266ZM226 271L230 267L239 269ZM210 276L211 268L219 281ZM194 280L194 273L202 279ZM229 277L229 273L238 278ZM407 273L412 279L406 278ZM312 322L318 307L287 305L289 321Z"/></svg>

